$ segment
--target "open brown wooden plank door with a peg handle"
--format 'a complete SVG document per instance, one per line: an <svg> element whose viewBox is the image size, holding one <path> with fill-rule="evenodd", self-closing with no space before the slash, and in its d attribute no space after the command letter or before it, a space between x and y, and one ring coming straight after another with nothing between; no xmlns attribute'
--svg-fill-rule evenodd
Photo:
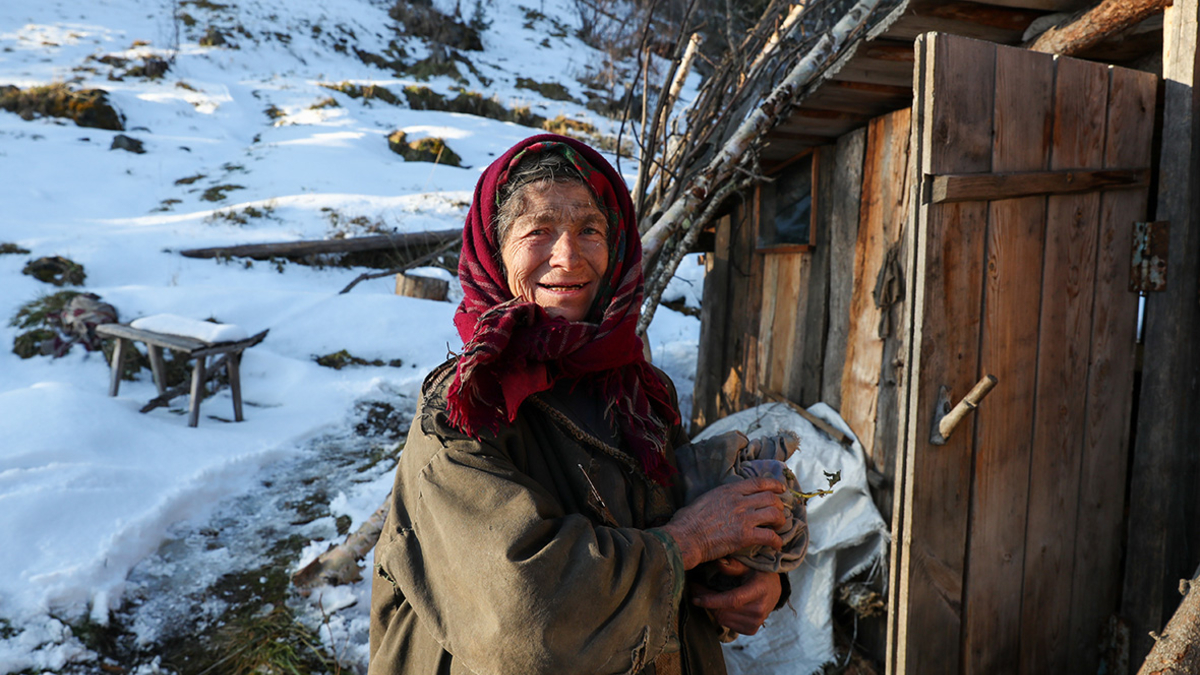
<svg viewBox="0 0 1200 675"><path fill-rule="evenodd" d="M1121 580L1156 77L940 34L916 48L889 670L1093 674ZM989 374L932 444L940 392Z"/></svg>

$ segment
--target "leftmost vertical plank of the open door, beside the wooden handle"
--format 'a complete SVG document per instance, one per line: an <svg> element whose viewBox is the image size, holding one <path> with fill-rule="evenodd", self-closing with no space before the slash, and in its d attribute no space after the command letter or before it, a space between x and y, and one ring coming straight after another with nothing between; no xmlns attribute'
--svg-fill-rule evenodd
<svg viewBox="0 0 1200 675"><path fill-rule="evenodd" d="M924 173L991 168L995 46L928 37ZM953 67L949 67L953 65ZM979 370L978 316L986 207L926 204L918 227L913 383L907 401L904 545L896 609L896 673L958 673L971 441L967 419L946 446L929 443L940 387L965 393Z"/></svg>

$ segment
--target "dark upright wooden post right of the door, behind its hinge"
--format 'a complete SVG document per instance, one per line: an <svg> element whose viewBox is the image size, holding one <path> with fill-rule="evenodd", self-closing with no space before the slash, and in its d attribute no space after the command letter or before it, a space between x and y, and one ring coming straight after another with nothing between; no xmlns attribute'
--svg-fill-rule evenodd
<svg viewBox="0 0 1200 675"><path fill-rule="evenodd" d="M1178 605L1200 550L1200 2L1175 0L1163 26L1163 148L1156 219L1171 223L1166 289L1148 293L1145 368L1130 466L1122 614L1136 667Z"/></svg>

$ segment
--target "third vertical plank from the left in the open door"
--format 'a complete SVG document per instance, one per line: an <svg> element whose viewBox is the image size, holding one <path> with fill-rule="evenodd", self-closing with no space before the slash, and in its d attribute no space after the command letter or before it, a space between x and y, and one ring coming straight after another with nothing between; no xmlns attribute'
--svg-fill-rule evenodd
<svg viewBox="0 0 1200 675"><path fill-rule="evenodd" d="M1108 80L1103 64L1058 59L1052 169L1103 166ZM1020 671L1028 674L1074 671L1066 647L1099 205L1098 192L1046 203L1021 621Z"/></svg>

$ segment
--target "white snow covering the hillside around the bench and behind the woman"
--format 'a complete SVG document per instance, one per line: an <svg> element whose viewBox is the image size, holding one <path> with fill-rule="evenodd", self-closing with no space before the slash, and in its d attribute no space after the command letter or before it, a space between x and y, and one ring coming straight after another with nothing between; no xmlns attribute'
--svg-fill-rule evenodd
<svg viewBox="0 0 1200 675"><path fill-rule="evenodd" d="M422 85L454 95L462 83L451 78L418 82L355 58L353 48L382 54L394 40L410 61L427 54L419 40L392 31L390 2L205 5L180 5L197 19L187 28L173 20L175 4L166 0L0 4L0 84L102 88L125 117L124 133L146 150L110 149L114 131L0 112L0 244L30 251L0 255L0 673L94 670L97 655L71 626L104 625L118 613L152 652L169 623L194 609L154 592L157 579L203 598L204 585L222 571L260 562L256 527L310 537L296 567L336 537L332 516L349 516L358 527L390 489L394 461L344 474L313 466L325 466L319 462L326 449L353 442L356 406L383 400L410 407L424 376L461 347L451 323L461 288L444 270L421 274L451 280L450 303L396 297L389 277L338 293L362 269L179 252L460 227L479 172L536 132L324 86L376 84L401 96L404 85ZM574 5L536 5L552 19L530 19L516 4L482 2L492 22L485 50L468 55L488 84L460 68L466 88L506 107L530 106L546 118L565 114L614 131L616 123L582 104L578 78L596 70L602 55L574 37ZM233 46L200 47L210 24ZM122 68L96 60L103 55L130 65L149 55L174 60L161 79L118 80L108 76ZM546 100L517 88L518 77L558 82L580 102ZM325 98L337 106L314 106ZM271 106L282 117L269 117ZM404 162L388 149L395 130L446 138L463 167ZM632 178L626 175L630 184ZM192 429L181 414L186 396L138 412L157 394L148 371L109 398L101 353L77 346L60 359L14 354L7 346L22 330L7 319L59 291L22 274L43 256L82 264L88 276L78 289L113 304L124 322L166 313L180 317L176 323L270 329L244 354L245 422L229 423L228 389L204 401ZM685 261L680 269L667 299L695 307L703 268ZM649 338L686 417L698 321L660 307ZM342 350L389 365L334 370L314 362ZM272 490L287 489L288 477L305 471L341 483L329 489L330 516L294 526L264 500L282 500ZM234 543L239 528L246 532ZM216 534L202 534L210 531ZM204 537L222 544L204 544ZM366 663L368 595L365 581L311 598L325 617L323 639L355 671ZM196 607L216 611L214 603L205 598ZM122 665L137 673L167 668L152 653Z"/></svg>

